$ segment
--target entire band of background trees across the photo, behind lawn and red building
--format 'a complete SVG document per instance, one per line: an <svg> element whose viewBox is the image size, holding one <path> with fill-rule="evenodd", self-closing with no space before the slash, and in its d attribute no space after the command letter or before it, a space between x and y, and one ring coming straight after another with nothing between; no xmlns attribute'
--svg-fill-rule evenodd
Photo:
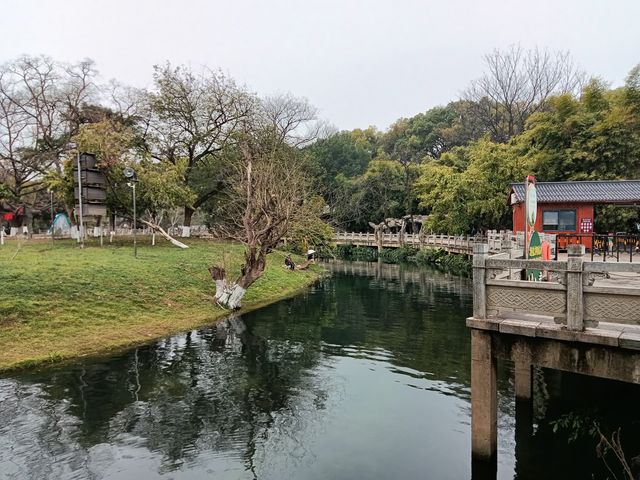
<svg viewBox="0 0 640 480"><path fill-rule="evenodd" d="M229 152L239 132L257 124L299 151L322 221L344 230L408 214L428 215L426 228L438 233L509 228L509 184L527 174L638 178L640 66L612 89L585 81L566 52L511 47L484 61L479 78L447 105L386 131L322 134L306 100L260 98L219 71L166 64L156 67L152 88L136 90L101 84L90 61L23 57L0 65L0 202L48 211L51 189L57 209L72 217L69 159L82 148L111 169L111 211L130 213L120 172L136 164L147 192L139 214L188 227L203 212L213 227L233 189ZM596 213L597 229L630 231L638 220L630 209ZM308 227L291 233L298 248L328 238L326 226Z"/></svg>

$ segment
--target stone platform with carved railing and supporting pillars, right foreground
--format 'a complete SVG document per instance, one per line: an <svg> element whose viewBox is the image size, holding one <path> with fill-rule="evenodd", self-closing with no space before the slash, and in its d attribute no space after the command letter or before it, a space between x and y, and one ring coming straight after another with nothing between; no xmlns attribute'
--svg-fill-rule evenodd
<svg viewBox="0 0 640 480"><path fill-rule="evenodd" d="M521 280L531 270L544 281ZM514 364L516 412L531 412L532 366L640 384L640 264L586 261L581 245L566 261L536 261L477 244L467 326L472 464L486 476L497 459L498 361Z"/></svg>

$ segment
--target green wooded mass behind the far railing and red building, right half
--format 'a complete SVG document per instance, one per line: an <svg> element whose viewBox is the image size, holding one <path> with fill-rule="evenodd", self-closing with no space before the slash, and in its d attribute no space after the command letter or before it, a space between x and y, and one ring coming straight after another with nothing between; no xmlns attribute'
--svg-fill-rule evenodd
<svg viewBox="0 0 640 480"><path fill-rule="evenodd" d="M487 60L496 61L498 54ZM541 53L502 55L518 69ZM573 67L556 67L547 94L518 92L538 103L518 107L513 118L508 112L515 107L506 100L488 93L475 100L466 95L401 118L386 132L370 128L364 131L366 143L358 143L362 130L318 142L309 151L325 166L319 178L336 226L366 231L369 222L427 214L426 228L439 233L511 228L509 184L527 174L539 181L639 178L640 67L617 89L598 79L580 82ZM501 72L491 74L496 82L503 80ZM491 102L498 113L488 118L482 114L487 105L479 103ZM356 155L358 145L364 146ZM596 213L597 229L636 228L635 210L601 206Z"/></svg>

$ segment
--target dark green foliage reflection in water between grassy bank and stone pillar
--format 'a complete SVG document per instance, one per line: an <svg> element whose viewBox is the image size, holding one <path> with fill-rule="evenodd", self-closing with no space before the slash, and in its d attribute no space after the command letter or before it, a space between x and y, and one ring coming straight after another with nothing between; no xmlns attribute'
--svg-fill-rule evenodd
<svg viewBox="0 0 640 480"><path fill-rule="evenodd" d="M328 263L334 273L306 294L261 312L260 336L317 339L335 355L383 355L398 373L441 382L468 396L469 279L427 268L366 262ZM307 311L290 321L290 312ZM250 318L249 315L248 318ZM446 385L445 385L446 384Z"/></svg>

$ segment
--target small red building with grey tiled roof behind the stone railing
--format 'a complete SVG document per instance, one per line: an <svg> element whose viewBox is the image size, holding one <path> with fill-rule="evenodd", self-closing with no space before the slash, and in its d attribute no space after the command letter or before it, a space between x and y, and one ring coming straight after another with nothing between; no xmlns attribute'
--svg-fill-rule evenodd
<svg viewBox="0 0 640 480"><path fill-rule="evenodd" d="M592 234L595 205L640 206L640 180L536 182L536 194L538 212L534 229L537 232ZM524 183L511 184L509 204L513 209L514 232L525 229L524 201ZM585 236L581 241L591 248L591 239ZM559 248L565 246L562 242L558 244Z"/></svg>

